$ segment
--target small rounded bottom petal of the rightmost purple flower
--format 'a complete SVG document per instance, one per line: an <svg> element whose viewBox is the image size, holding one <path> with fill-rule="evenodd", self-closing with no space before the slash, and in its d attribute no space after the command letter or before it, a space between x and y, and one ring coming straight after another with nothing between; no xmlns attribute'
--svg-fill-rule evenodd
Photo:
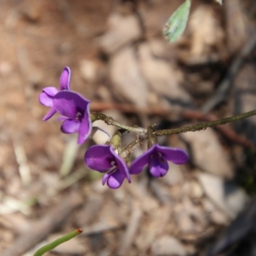
<svg viewBox="0 0 256 256"><path fill-rule="evenodd" d="M159 154L156 152L152 154L151 159L148 163L148 169L149 172L156 178L163 177L166 175L169 165L166 160L163 159L163 157L159 156Z"/></svg>

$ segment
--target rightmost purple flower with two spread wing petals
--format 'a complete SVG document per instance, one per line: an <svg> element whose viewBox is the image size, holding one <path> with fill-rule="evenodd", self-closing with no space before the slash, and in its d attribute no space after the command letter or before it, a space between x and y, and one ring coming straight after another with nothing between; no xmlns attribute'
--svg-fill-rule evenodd
<svg viewBox="0 0 256 256"><path fill-rule="evenodd" d="M154 177L163 177L169 169L167 161L175 164L184 164L188 159L188 153L181 148L161 147L154 144L132 162L129 172L131 174L138 174L148 164L149 172Z"/></svg>

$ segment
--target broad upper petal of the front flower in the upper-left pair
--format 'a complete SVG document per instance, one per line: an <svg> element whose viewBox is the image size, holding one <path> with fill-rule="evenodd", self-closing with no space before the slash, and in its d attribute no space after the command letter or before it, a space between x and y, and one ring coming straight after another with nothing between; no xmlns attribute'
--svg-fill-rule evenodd
<svg viewBox="0 0 256 256"><path fill-rule="evenodd" d="M63 90L58 92L53 100L53 106L60 115L76 118L77 114L83 115L88 111L89 100L76 92Z"/></svg>

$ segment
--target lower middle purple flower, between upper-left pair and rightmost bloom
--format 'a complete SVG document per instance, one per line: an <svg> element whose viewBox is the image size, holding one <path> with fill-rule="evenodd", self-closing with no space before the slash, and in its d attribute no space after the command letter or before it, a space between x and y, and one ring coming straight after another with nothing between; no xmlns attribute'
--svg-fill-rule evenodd
<svg viewBox="0 0 256 256"><path fill-rule="evenodd" d="M85 155L84 161L92 170L105 173L102 184L109 188L119 188L126 178L131 182L129 170L124 160L118 156L111 145L94 145Z"/></svg>

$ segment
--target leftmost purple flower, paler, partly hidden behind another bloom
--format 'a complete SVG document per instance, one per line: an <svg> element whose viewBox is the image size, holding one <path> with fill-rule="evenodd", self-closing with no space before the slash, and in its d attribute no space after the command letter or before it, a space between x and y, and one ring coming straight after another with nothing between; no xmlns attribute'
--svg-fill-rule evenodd
<svg viewBox="0 0 256 256"><path fill-rule="evenodd" d="M70 84L70 76L71 76L71 70L68 67L63 68L63 71L60 76L60 90L70 90L69 84ZM39 95L39 102L47 107L50 107L51 109L47 113L47 115L44 116L43 120L46 121L49 118L51 118L55 113L56 109L53 107L53 99L54 96L59 92L58 89L55 87L45 87L43 89L43 92Z"/></svg>

